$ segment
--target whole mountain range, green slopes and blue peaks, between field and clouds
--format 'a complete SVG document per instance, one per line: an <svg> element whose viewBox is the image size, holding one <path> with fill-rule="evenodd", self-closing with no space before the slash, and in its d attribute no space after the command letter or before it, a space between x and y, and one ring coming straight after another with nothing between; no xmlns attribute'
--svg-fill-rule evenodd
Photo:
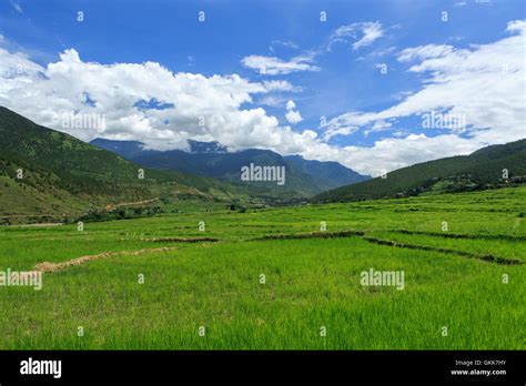
<svg viewBox="0 0 526 386"><path fill-rule="evenodd" d="M239 205L346 202L510 186L526 182L526 139L469 155L418 163L370 179L336 162L230 152L189 141L190 151L154 151L134 141L91 144L0 106L0 223L78 216L122 203L204 200ZM250 164L280 166L286 184L241 181ZM143 177L141 177L141 173ZM343 186L342 186L343 185ZM39 220L40 221L40 220Z"/></svg>

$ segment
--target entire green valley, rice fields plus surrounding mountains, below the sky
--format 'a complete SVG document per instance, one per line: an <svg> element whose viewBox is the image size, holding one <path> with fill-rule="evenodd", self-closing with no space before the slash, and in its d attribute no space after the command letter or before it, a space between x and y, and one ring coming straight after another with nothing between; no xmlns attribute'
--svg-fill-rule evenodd
<svg viewBox="0 0 526 386"><path fill-rule="evenodd" d="M1 287L0 348L524 349L525 141L316 195L356 173L0 109L0 272L41 278Z"/></svg>

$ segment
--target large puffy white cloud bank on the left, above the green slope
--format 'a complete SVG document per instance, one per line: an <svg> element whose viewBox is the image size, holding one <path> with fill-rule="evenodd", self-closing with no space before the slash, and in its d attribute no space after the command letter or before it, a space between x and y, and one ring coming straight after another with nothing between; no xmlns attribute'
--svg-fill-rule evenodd
<svg viewBox="0 0 526 386"><path fill-rule="evenodd" d="M0 104L84 141L139 140L168 150L188 149L186 140L193 139L283 154L318 146L312 133L294 132L264 109L250 108L254 95L293 91L287 81L173 73L155 62L84 62L73 49L47 67L0 49ZM71 115L100 115L105 124L64 128L64 116Z"/></svg>

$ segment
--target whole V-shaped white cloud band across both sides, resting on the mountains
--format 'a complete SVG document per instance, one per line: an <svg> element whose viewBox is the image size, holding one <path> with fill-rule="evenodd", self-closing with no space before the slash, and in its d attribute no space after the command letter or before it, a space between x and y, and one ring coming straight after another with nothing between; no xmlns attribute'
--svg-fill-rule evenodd
<svg viewBox="0 0 526 386"><path fill-rule="evenodd" d="M271 149L307 160L338 161L361 173L378 175L526 136L526 22L510 22L506 31L508 37L499 41L469 49L428 44L401 51L398 61L419 75L421 89L382 111L351 111L336 116L321 128L321 135L280 125L275 116L254 105L254 99L266 98L269 103L283 106L285 100L273 99L273 93L294 91L286 81L175 73L155 62L84 62L73 49L44 67L23 53L0 49L0 104L87 141L95 136L139 140L158 150L188 149L188 139L219 141L234 151ZM293 101L285 109L297 112ZM466 131L407 135L392 128L394 121L431 111L466 116ZM64 114L100 114L105 124L64 129ZM291 124L299 122L297 114L289 116ZM397 135L378 140L371 148L327 143L334 135L360 130L396 130Z"/></svg>

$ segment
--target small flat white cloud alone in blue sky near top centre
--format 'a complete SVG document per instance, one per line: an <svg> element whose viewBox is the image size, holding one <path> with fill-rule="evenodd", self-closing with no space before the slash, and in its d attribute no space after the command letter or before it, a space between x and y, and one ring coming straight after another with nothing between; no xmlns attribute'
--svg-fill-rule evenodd
<svg viewBox="0 0 526 386"><path fill-rule="evenodd" d="M312 59L304 55L292 58L290 61L275 57L250 55L243 58L241 63L266 75L281 75L297 71L320 71L317 65L312 64Z"/></svg>

